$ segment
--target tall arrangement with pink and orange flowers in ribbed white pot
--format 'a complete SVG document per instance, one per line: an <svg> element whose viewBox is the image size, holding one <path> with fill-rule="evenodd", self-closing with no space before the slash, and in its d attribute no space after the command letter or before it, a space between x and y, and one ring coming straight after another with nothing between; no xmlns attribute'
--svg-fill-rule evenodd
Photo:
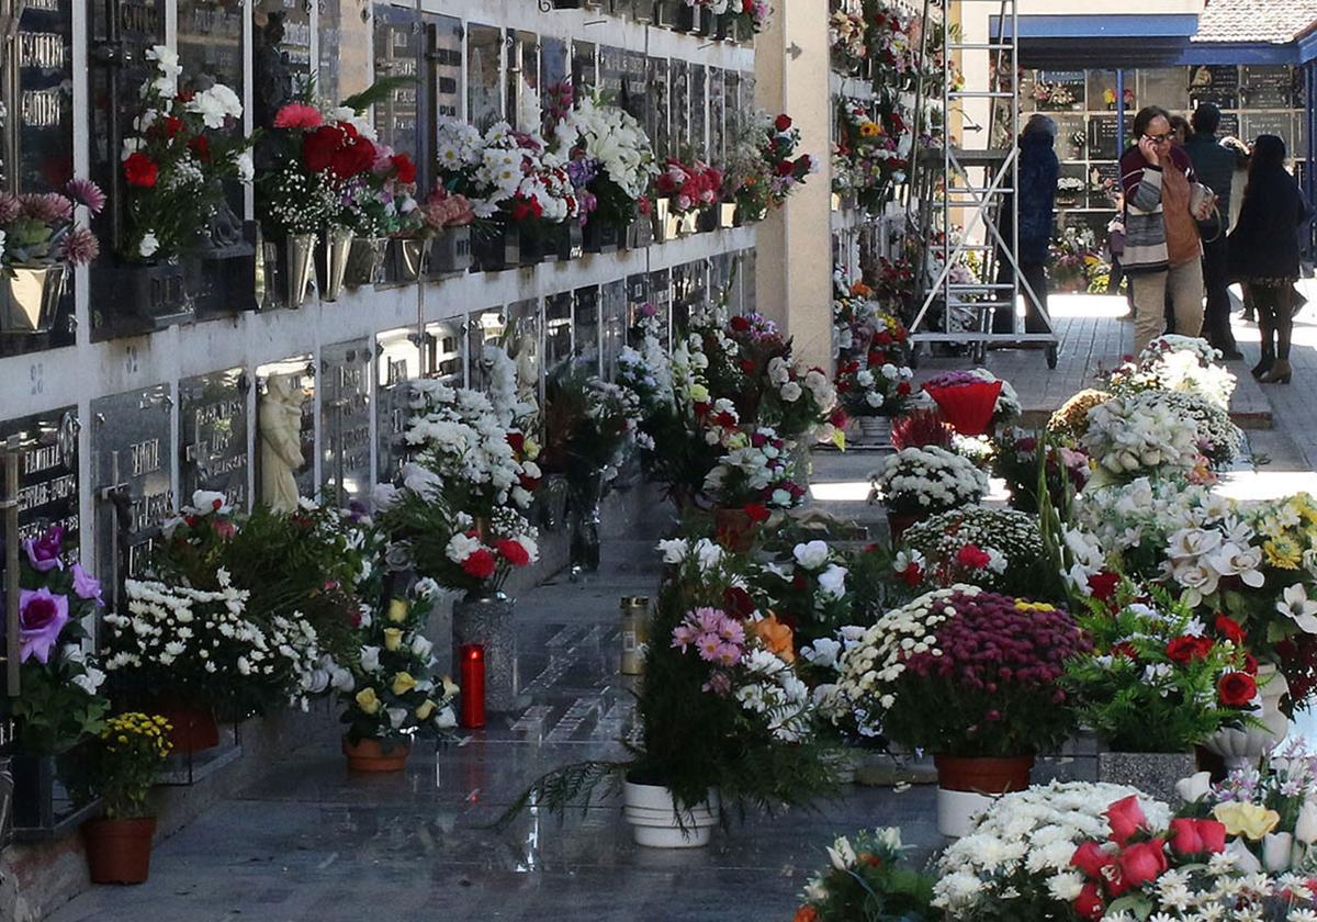
<svg viewBox="0 0 1317 922"><path fill-rule="evenodd" d="M792 631L736 591L741 561L709 539L660 548L669 577L649 623L631 759L556 769L503 822L532 802L549 810L589 802L612 780L622 781L639 844L690 848L709 843L720 813L803 805L835 788L836 767L814 738L810 690L794 672Z"/></svg>

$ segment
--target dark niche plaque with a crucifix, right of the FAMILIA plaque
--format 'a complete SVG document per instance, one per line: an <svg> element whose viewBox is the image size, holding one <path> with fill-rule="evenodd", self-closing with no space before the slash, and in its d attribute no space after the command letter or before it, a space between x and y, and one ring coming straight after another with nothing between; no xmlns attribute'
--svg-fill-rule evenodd
<svg viewBox="0 0 1317 922"><path fill-rule="evenodd" d="M91 402L96 576L113 607L125 577L142 572L174 515L169 385Z"/></svg>

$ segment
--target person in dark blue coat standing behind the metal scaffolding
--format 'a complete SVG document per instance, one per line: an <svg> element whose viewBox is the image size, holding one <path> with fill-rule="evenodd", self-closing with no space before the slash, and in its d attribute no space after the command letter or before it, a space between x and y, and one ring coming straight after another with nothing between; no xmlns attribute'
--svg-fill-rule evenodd
<svg viewBox="0 0 1317 922"><path fill-rule="evenodd" d="M1019 262L1025 294L1025 332L1047 333L1047 258L1052 244L1052 212L1056 205L1056 122L1044 115L1033 116L1019 133ZM1009 198L1002 204L997 228L1010 245L1014 208ZM997 285L1014 285L1015 269L997 248ZM993 313L994 333L1015 332L1015 308Z"/></svg>

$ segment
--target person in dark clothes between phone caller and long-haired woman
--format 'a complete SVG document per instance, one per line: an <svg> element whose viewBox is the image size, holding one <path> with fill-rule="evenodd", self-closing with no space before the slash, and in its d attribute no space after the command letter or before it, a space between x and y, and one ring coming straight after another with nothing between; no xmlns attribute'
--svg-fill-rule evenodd
<svg viewBox="0 0 1317 922"><path fill-rule="evenodd" d="M1184 153L1193 163L1198 182L1217 194L1217 211L1206 221L1198 223L1202 237L1202 285L1208 292L1208 310L1202 333L1226 360L1243 358L1230 329L1230 195L1238 154L1217 141L1221 128L1221 109L1202 103L1193 112L1193 133L1184 145Z"/></svg>

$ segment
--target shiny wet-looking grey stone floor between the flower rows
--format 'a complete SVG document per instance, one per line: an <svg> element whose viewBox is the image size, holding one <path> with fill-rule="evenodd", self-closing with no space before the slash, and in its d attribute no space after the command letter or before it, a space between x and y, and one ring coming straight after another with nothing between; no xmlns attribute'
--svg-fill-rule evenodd
<svg viewBox="0 0 1317 922"><path fill-rule="evenodd" d="M95 888L54 922L412 919L790 919L839 832L901 825L936 840L931 788L848 788L838 802L751 817L709 848L636 847L615 800L583 815L490 823L545 769L620 755L630 678L618 674L618 597L651 594L653 539L610 541L599 576L527 593L525 706L407 772L349 776L337 739L299 751L157 847L151 879Z"/></svg>

